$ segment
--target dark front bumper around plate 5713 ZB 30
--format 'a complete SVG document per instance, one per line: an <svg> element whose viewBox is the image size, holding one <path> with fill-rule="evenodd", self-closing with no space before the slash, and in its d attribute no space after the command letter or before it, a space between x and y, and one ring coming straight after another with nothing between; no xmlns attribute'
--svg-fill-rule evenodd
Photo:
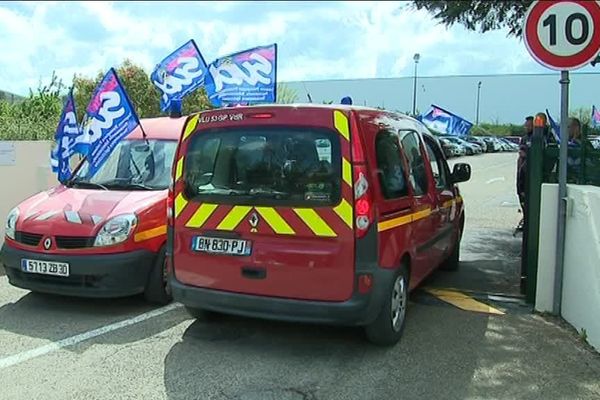
<svg viewBox="0 0 600 400"><path fill-rule="evenodd" d="M79 297L122 297L144 291L156 254L136 250L118 254L58 255L16 249L5 243L0 257L10 284L22 289ZM23 272L23 258L69 263L69 276Z"/></svg>

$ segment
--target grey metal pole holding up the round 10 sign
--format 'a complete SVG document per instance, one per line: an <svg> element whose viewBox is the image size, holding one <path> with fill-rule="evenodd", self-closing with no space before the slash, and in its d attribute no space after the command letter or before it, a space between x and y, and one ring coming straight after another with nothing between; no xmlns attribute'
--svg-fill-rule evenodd
<svg viewBox="0 0 600 400"><path fill-rule="evenodd" d="M556 270L554 271L553 313L560 315L563 269L565 260L565 228L567 222L567 157L569 145L569 71L560 73L560 153L558 161L558 218L556 229Z"/></svg>

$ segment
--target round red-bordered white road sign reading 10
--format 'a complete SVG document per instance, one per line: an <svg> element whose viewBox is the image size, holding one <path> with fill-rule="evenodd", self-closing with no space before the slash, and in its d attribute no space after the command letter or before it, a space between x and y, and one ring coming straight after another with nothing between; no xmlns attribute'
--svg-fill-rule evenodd
<svg viewBox="0 0 600 400"><path fill-rule="evenodd" d="M600 2L534 1L525 15L523 39L540 64L556 70L580 68L600 53Z"/></svg>

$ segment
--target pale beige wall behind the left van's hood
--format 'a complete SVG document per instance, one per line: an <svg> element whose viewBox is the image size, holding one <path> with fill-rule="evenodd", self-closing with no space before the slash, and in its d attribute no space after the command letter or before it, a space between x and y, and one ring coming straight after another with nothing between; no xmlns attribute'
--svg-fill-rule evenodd
<svg viewBox="0 0 600 400"><path fill-rule="evenodd" d="M15 165L0 165L0 245L10 210L27 197L58 184L50 169L52 142L11 143L15 145Z"/></svg>

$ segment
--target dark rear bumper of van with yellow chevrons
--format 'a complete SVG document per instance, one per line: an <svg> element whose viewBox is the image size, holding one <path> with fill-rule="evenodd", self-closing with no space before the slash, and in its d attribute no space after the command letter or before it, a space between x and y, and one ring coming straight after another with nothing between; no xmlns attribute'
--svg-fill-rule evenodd
<svg viewBox="0 0 600 400"><path fill-rule="evenodd" d="M367 325L377 318L389 293L394 270L378 268L369 294L325 302L256 296L187 286L171 278L173 299L185 306L252 318L330 325Z"/></svg>

